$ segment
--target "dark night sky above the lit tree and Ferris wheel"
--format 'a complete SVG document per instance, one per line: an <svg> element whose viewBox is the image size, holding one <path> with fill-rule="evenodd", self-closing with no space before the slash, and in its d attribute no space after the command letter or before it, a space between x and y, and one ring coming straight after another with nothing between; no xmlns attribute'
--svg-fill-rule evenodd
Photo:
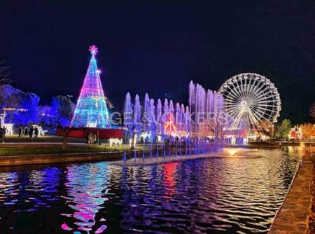
<svg viewBox="0 0 315 234"><path fill-rule="evenodd" d="M315 101L314 1L3 1L0 57L16 87L78 97L99 48L106 95L188 102L188 83L218 90L255 72L281 95L281 118L309 121ZM142 97L141 97L142 98Z"/></svg>

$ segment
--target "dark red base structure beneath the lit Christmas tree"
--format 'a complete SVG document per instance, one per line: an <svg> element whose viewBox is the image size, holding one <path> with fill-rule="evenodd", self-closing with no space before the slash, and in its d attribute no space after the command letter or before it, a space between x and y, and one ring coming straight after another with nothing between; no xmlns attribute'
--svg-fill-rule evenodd
<svg viewBox="0 0 315 234"><path fill-rule="evenodd" d="M100 139L109 139L109 138L118 138L122 139L124 137L123 128L71 128L68 137L79 137L85 138L89 132L96 133L98 132ZM62 129L57 129L56 135L62 136Z"/></svg>

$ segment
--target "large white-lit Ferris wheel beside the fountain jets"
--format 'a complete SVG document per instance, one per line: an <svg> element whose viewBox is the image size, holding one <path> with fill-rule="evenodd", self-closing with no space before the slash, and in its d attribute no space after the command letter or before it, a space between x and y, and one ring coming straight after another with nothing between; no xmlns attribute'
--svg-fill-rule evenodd
<svg viewBox="0 0 315 234"><path fill-rule="evenodd" d="M244 121L248 130L256 130L276 123L281 111L281 99L274 84L253 73L244 73L225 81L219 92L225 99L225 109L237 128Z"/></svg>

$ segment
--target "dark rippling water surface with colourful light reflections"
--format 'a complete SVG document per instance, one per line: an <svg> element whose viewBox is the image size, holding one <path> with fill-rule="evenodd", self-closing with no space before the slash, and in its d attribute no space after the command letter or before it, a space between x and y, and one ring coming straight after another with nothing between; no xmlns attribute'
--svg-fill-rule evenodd
<svg viewBox="0 0 315 234"><path fill-rule="evenodd" d="M3 167L0 233L267 233L303 153Z"/></svg>

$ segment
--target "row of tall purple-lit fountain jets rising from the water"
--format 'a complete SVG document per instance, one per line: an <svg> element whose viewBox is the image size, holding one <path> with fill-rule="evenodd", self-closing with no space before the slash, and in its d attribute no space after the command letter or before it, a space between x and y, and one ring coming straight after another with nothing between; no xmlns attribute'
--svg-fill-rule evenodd
<svg viewBox="0 0 315 234"><path fill-rule="evenodd" d="M160 149L160 156L163 157L221 151L226 141L225 126L228 125L229 118L225 113L222 95L205 90L193 81L189 85L188 106L174 103L172 99L165 99L163 104L161 99L155 102L148 93L145 94L143 105L139 95L135 95L132 103L128 92L124 111L125 122L127 121L124 124L129 129L129 137L135 133L140 137L144 132L148 133L146 137L138 139L144 147L143 160L146 154L152 159L154 151L155 158L159 158ZM134 159L137 159L136 154Z"/></svg>

